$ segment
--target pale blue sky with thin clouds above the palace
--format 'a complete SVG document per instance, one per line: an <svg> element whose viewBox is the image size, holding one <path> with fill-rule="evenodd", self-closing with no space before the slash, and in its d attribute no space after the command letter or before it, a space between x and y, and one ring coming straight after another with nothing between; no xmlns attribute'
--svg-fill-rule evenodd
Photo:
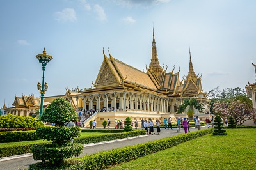
<svg viewBox="0 0 256 170"><path fill-rule="evenodd" d="M0 1L0 107L15 95L40 94L47 51L46 96L65 88L89 88L108 54L145 70L152 27L160 64L175 65L180 81L189 70L189 47L202 87L209 92L255 82L256 1L214 0L25 0Z"/></svg>

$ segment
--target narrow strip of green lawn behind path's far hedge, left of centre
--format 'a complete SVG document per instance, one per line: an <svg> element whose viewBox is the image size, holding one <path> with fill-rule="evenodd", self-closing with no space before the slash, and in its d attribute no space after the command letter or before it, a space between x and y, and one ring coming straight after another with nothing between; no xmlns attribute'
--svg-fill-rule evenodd
<svg viewBox="0 0 256 170"><path fill-rule="evenodd" d="M95 135L108 135L111 133L100 133L100 132L81 132L81 137L87 136L95 136ZM36 141L22 141L22 142L11 142L11 143L0 143L0 148L4 148L6 146L17 146L17 145L24 145L24 144L40 144L40 143L49 143L51 141L44 141L44 140L36 140Z"/></svg>

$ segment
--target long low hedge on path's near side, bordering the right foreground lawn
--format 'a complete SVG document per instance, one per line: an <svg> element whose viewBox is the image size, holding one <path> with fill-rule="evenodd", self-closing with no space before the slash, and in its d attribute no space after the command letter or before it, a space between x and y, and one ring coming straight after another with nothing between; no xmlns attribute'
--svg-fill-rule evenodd
<svg viewBox="0 0 256 170"><path fill-rule="evenodd" d="M212 131L212 128L210 128L191 132L189 134L158 139L156 141L150 141L136 146L127 146L125 148L103 151L93 155L86 155L81 158L72 158L68 159L60 169L105 169L116 164L129 162L136 158L171 148L172 146L176 146L177 144L184 143L202 135L211 134ZM51 169L51 167L48 168ZM39 162L30 165L29 169L45 169L45 167L42 165L42 162Z"/></svg>

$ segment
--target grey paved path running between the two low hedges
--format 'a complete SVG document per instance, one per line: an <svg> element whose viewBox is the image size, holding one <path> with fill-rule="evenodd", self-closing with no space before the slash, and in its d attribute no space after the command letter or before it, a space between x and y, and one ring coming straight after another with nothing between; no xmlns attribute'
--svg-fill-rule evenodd
<svg viewBox="0 0 256 170"><path fill-rule="evenodd" d="M206 127L201 127L202 129L205 129ZM156 128L154 129L156 132ZM197 131L195 128L191 128L191 132ZM115 141L108 141L108 142L102 142L102 143L95 143L95 144L85 144L83 153L79 155L79 157L83 157L84 155L90 155L92 153L97 153L100 151L106 151L106 150L113 150L115 148L123 148L124 146L132 146L140 143L145 143L147 141L154 141L156 139L161 139L164 137L170 137L173 135L179 135L184 134L184 129L181 129L181 133L177 132L177 128L173 128L172 130L161 128L160 135L157 135L157 132L155 135L143 135L141 137L132 137L130 139L120 139ZM33 157L31 154L24 155L22 157L9 157L5 158L3 160L0 160L0 170L17 170L17 169L26 169L29 167L29 164L35 164L36 162L33 160Z"/></svg>

